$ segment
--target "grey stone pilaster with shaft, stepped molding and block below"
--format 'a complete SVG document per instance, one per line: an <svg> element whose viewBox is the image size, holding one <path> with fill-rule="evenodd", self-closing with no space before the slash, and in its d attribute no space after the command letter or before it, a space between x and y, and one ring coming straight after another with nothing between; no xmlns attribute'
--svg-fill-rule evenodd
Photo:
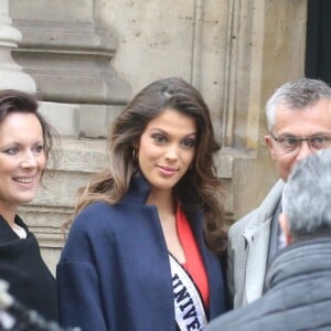
<svg viewBox="0 0 331 331"><path fill-rule="evenodd" d="M13 24L23 34L13 57L35 79L42 99L79 105L79 136L105 137L131 89L111 67L116 41L102 20L100 1L11 0L9 4Z"/></svg>

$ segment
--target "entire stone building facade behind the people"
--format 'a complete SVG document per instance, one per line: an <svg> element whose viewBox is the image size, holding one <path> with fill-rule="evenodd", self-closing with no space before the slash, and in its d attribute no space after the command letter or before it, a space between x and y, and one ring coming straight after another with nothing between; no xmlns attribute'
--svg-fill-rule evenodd
<svg viewBox="0 0 331 331"><path fill-rule="evenodd" d="M62 136L60 167L21 209L52 270L109 124L160 77L191 82L212 110L228 222L256 206L276 181L264 105L303 76L306 22L307 0L0 0L0 88L35 92Z"/></svg>

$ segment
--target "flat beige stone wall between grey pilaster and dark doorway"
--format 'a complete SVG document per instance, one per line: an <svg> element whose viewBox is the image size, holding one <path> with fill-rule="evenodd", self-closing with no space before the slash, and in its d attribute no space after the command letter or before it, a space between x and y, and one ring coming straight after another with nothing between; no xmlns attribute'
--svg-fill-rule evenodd
<svg viewBox="0 0 331 331"><path fill-rule="evenodd" d="M303 75L306 0L104 1L117 36L116 72L134 93L181 76L203 93L224 149L229 220L250 211L276 180L266 151L264 105Z"/></svg>

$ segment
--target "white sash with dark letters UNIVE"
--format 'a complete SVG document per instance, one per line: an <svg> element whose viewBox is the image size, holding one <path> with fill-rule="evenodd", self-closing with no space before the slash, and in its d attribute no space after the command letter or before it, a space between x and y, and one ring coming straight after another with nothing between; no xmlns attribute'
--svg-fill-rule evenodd
<svg viewBox="0 0 331 331"><path fill-rule="evenodd" d="M204 306L186 270L169 254L175 321L181 331L203 330L207 320Z"/></svg>

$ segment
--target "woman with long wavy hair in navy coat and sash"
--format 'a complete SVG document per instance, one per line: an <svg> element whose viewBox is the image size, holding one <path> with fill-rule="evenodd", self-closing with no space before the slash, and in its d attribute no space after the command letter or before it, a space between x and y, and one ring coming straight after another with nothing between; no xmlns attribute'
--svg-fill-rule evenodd
<svg viewBox="0 0 331 331"><path fill-rule="evenodd" d="M114 121L109 167L81 191L57 266L63 325L202 330L225 310L218 150L183 79L134 97Z"/></svg>

